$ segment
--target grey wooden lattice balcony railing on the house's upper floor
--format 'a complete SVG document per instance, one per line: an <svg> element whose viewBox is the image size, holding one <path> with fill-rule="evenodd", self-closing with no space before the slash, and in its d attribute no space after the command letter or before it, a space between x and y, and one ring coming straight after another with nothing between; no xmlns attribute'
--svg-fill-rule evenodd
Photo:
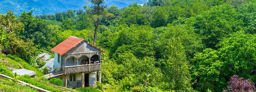
<svg viewBox="0 0 256 92"><path fill-rule="evenodd" d="M100 70L101 70L101 63L77 65L77 66L65 66L65 74L93 72L93 71L100 71Z"/></svg>

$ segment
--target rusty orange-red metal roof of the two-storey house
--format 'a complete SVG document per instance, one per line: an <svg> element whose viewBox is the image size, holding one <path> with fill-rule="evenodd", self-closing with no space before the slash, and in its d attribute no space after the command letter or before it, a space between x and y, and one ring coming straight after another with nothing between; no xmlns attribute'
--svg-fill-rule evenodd
<svg viewBox="0 0 256 92"><path fill-rule="evenodd" d="M61 42L60 44L58 44L57 46L53 47L51 49L51 51L56 52L60 55L64 55L65 53L67 53L69 50L72 50L74 47L77 47L77 45L79 45L80 43L82 43L83 41L85 41L82 38L78 38L78 37L73 37L70 36L67 39L65 39L63 42ZM89 45L92 45L91 43L88 42ZM101 50L99 47L96 47L94 45L92 45L93 47L97 48L98 50ZM104 50L101 50L102 52L105 53Z"/></svg>

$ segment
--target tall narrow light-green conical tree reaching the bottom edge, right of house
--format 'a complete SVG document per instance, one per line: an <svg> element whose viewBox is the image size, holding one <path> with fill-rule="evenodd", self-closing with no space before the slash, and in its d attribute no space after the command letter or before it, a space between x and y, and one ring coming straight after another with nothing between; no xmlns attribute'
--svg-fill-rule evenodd
<svg viewBox="0 0 256 92"><path fill-rule="evenodd" d="M161 71L165 75L163 81L166 85L163 88L174 91L192 91L188 63L181 39L172 37L164 43L166 45L161 48L163 58L159 61L162 66Z"/></svg>

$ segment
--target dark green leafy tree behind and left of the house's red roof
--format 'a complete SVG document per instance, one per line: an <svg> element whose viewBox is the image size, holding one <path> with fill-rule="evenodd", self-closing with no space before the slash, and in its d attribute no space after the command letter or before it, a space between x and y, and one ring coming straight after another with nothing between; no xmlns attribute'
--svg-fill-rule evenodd
<svg viewBox="0 0 256 92"><path fill-rule="evenodd" d="M24 31L19 36L21 39L31 39L36 45L46 49L48 46L53 46L53 38L57 32L50 30L45 20L36 19L32 16L32 12L23 12L18 17L18 20L24 24Z"/></svg>

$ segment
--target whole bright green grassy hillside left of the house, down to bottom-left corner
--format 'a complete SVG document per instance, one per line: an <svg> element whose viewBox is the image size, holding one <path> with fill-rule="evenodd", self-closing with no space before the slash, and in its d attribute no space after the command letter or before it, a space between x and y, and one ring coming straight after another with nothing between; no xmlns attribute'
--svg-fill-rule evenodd
<svg viewBox="0 0 256 92"><path fill-rule="evenodd" d="M37 68L37 66L31 66L28 63L26 63L25 61L23 61L21 58L17 58L16 56L13 55L8 55L5 56L3 54L0 54L0 74L4 74L7 75L9 77L13 78L13 74L12 72L7 69L7 67L10 68L15 68L15 69L28 69L28 70L32 70L36 72L35 77L30 77L28 75L23 75L23 76L18 76L18 80L24 81L26 83L29 83L31 85L34 85L36 87L39 88L43 88L45 90L48 91L52 91L52 92L61 92L61 91L65 91L62 88L56 88L55 86L49 85L47 83L41 82L41 81L45 81L45 82L49 82L48 80L44 80L44 78L42 78L41 76L42 71L40 69ZM12 90L10 90L12 89ZM4 91L4 92L21 92L21 91L26 91L26 92L38 92L38 90L36 90L35 88L30 88L29 86L24 86L24 85L20 85L18 83L14 83L12 80L8 80L4 77L0 76L0 91Z"/></svg>

